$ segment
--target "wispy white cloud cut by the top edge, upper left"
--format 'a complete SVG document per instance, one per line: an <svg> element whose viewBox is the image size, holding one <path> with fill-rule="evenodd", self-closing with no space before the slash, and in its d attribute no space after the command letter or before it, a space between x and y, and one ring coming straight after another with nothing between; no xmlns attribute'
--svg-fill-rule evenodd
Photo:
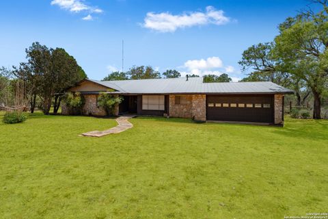
<svg viewBox="0 0 328 219"><path fill-rule="evenodd" d="M51 5L58 5L59 8L68 10L70 12L89 12L89 13L102 13L100 8L92 7L84 3L83 0L53 0ZM82 18L85 21L92 21L91 14Z"/></svg>

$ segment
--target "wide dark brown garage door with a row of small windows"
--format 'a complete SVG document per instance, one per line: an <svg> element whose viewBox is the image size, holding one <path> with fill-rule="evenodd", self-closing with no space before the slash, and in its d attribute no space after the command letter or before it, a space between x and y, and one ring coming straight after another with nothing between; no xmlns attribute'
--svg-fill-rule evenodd
<svg viewBox="0 0 328 219"><path fill-rule="evenodd" d="M273 123L273 96L207 95L207 120Z"/></svg>

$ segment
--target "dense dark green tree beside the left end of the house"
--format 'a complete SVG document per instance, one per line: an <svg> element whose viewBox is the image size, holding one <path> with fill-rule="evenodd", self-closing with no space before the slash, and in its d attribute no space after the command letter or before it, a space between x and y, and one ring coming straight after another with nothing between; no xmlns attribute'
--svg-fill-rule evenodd
<svg viewBox="0 0 328 219"><path fill-rule="evenodd" d="M34 98L35 94L40 96L42 111L49 114L55 96L54 113L57 113L61 96L55 94L64 92L66 88L85 78L83 69L74 57L61 48L49 49L39 42L33 42L32 46L26 49L26 53L26 65L30 71L27 79L37 88L33 92Z"/></svg>

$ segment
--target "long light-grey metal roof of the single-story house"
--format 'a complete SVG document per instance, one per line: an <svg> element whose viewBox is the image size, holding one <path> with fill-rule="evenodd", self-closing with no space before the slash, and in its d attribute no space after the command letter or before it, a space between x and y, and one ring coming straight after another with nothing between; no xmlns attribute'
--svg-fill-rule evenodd
<svg viewBox="0 0 328 219"><path fill-rule="evenodd" d="M90 79L88 79L90 80ZM292 90L269 81L203 83L202 77L96 81L122 94L292 94Z"/></svg>

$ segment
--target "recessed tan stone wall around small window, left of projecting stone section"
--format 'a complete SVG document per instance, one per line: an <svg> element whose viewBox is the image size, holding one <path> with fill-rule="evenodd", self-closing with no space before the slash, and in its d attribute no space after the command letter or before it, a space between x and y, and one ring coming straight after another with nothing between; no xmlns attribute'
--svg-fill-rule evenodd
<svg viewBox="0 0 328 219"><path fill-rule="evenodd" d="M178 118L192 118L193 95L183 95L187 98L187 104L176 105L176 95L169 95L169 116Z"/></svg>

